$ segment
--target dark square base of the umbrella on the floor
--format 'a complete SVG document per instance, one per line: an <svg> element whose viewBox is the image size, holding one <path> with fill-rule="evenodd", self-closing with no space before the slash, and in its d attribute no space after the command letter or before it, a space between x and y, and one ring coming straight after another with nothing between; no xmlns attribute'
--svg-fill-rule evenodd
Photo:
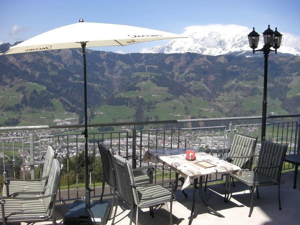
<svg viewBox="0 0 300 225"><path fill-rule="evenodd" d="M91 201L91 208L86 209L85 201L76 200L73 202L71 209L64 217L64 224L81 225L81 224L97 224L103 225L107 223L110 211L109 202Z"/></svg>

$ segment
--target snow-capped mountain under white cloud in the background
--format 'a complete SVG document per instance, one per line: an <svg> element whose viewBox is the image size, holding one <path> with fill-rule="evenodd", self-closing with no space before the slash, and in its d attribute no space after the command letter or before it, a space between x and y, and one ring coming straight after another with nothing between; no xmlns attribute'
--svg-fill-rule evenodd
<svg viewBox="0 0 300 225"><path fill-rule="evenodd" d="M273 28L274 29L274 28ZM197 25L188 26L183 36L189 38L174 39L165 45L152 47L148 53L185 53L195 52L204 55L223 55L232 52L248 52L249 47L247 35L252 29L239 25ZM280 53L289 53L300 56L300 36L281 32L283 34L281 46L277 50ZM258 48L264 44L263 36L259 37Z"/></svg>

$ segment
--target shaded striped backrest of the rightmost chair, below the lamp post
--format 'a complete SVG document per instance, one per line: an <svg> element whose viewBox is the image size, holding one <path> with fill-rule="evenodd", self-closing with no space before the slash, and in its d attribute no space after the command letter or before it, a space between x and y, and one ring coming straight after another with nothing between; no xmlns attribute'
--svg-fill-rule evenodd
<svg viewBox="0 0 300 225"><path fill-rule="evenodd" d="M262 145L259 151L257 167L280 167L274 169L257 169L257 172L279 182L283 160L286 155L286 150L287 145L285 146L270 141L262 141Z"/></svg>

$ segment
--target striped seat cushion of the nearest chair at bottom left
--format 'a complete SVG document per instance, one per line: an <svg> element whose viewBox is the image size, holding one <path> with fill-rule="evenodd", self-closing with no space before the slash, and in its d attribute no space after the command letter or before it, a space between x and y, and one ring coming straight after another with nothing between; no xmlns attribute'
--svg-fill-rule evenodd
<svg viewBox="0 0 300 225"><path fill-rule="evenodd" d="M41 199L5 199L4 209L5 217L13 213L7 217L7 221L40 220L49 217L45 203ZM33 214L29 214L29 212L33 212ZM2 219L2 209L0 207L0 220Z"/></svg>

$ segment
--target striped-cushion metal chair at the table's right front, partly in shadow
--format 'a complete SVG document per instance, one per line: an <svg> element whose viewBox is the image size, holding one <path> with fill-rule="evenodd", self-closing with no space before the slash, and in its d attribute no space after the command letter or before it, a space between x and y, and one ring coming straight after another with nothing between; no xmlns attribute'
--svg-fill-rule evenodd
<svg viewBox="0 0 300 225"><path fill-rule="evenodd" d="M286 150L287 145L284 146L270 141L262 141L257 166L253 168L253 171L246 171L243 176L229 175L251 187L252 194L249 217L251 217L253 211L255 191L257 192L257 198L259 198L258 186L278 185L278 203L279 210L281 210L280 177ZM226 193L227 187L229 187L228 193L230 193L230 179L226 179ZM228 199L229 195L227 196L226 202L228 202Z"/></svg>

